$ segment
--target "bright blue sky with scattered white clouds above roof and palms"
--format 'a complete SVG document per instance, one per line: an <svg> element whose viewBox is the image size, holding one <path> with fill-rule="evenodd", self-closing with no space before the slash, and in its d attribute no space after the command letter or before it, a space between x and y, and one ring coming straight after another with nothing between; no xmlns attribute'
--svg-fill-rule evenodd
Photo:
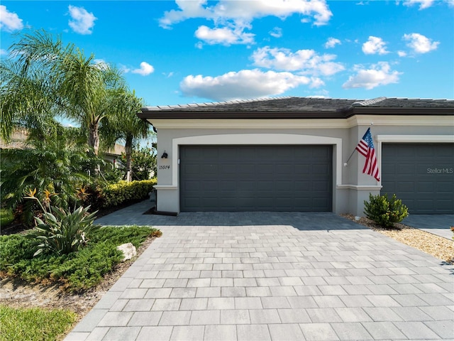
<svg viewBox="0 0 454 341"><path fill-rule="evenodd" d="M454 98L454 1L1 1L0 57L43 28L146 105Z"/></svg>

